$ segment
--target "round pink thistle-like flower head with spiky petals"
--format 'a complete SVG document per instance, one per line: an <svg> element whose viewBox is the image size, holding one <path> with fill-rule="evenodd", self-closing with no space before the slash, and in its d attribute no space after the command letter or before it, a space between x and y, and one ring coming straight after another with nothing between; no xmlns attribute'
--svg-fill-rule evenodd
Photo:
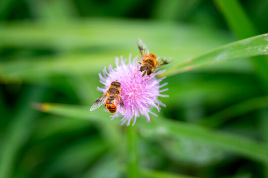
<svg viewBox="0 0 268 178"><path fill-rule="evenodd" d="M157 114L151 112L151 108L154 107L160 112L161 108L159 106L161 105L165 107L165 105L158 99L158 96L168 97L168 95L160 94L168 89L159 90L167 85L167 83L162 85L159 84L166 77L158 80L155 78L156 75L161 74L164 71L158 71L151 74L151 77L144 82L143 80L148 78L148 76L142 78L141 73L137 72L135 78L132 80L135 72L140 67L137 65L137 60L138 57L136 56L132 61L130 54L129 63L126 64L122 56L121 63L119 62L119 58L116 57L116 68L113 68L110 64L108 67L109 73L107 72L106 67L103 70L103 75L99 73L100 82L105 86L104 89L98 87L97 89L99 91L105 93L113 81L118 80L121 83L121 95L126 107L126 114L122 115L117 111L115 115L110 117L112 117L113 120L116 117L123 116L123 119L121 120L122 125L127 122L127 126L130 125L132 119L134 119L134 125L136 118L140 115L144 115L147 122L150 122L148 113L157 116Z"/></svg>

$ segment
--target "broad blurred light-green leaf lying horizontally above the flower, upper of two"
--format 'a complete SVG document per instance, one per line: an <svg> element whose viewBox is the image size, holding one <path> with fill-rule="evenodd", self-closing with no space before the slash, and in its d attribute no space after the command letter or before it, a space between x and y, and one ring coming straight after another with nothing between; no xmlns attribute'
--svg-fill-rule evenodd
<svg viewBox="0 0 268 178"><path fill-rule="evenodd" d="M159 34L165 34L165 38ZM195 54L198 51L193 51L193 47L197 50L204 50L207 47L209 49L213 45L231 41L228 34L214 29L177 23L163 24L148 20L89 18L76 19L68 23L29 21L0 23L0 46L41 47L67 51L79 48L89 52L102 51L107 48L124 50L131 47L133 50L128 53L136 51L138 54L137 38L146 42L150 51L158 51L155 52L156 55L169 54L171 56L178 53L178 50L180 53L184 52L183 48L188 48L188 52L191 51L190 54ZM202 43L204 40L206 43ZM173 48L177 50L173 51Z"/></svg>

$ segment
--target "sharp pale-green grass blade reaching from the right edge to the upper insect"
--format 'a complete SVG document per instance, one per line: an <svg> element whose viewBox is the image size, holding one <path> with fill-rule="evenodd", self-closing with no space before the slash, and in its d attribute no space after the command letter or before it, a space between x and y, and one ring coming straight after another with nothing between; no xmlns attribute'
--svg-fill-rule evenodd
<svg viewBox="0 0 268 178"><path fill-rule="evenodd" d="M200 56L175 64L163 75L171 76L217 62L266 54L268 54L268 34L263 34L217 47Z"/></svg>

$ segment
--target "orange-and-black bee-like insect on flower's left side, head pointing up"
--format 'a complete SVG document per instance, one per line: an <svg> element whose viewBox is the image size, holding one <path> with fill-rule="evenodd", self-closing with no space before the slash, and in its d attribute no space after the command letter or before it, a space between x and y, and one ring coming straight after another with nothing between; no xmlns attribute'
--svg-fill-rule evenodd
<svg viewBox="0 0 268 178"><path fill-rule="evenodd" d="M107 110L110 113L115 113L118 110L121 114L125 115L126 107L124 105L122 96L121 96L121 83L114 81L111 83L111 86L101 97L99 97L90 107L90 111L93 111L99 108L101 105L106 106Z"/></svg>

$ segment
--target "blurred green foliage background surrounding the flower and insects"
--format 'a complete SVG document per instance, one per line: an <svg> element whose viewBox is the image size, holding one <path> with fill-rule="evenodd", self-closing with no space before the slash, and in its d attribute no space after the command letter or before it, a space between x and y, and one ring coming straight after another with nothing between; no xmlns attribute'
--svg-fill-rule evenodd
<svg viewBox="0 0 268 178"><path fill-rule="evenodd" d="M137 38L177 64L267 33L267 9L267 0L0 0L0 178L268 178L265 56L169 76L167 107L151 123L138 118L133 137L120 118L89 112L98 73L138 55ZM67 105L43 113L33 101Z"/></svg>

